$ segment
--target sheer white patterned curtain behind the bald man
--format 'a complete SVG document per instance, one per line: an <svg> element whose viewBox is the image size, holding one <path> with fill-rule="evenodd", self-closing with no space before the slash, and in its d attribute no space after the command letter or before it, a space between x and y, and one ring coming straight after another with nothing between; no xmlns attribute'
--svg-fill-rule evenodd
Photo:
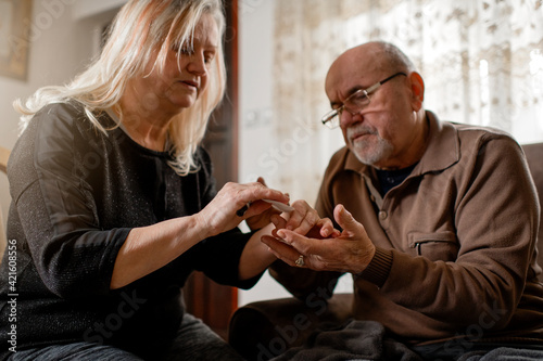
<svg viewBox="0 0 543 361"><path fill-rule="evenodd" d="M344 50L399 46L442 119L492 126L521 143L543 141L542 0L277 0L274 134L281 171L272 182L314 202L343 140L320 125L324 79Z"/></svg>

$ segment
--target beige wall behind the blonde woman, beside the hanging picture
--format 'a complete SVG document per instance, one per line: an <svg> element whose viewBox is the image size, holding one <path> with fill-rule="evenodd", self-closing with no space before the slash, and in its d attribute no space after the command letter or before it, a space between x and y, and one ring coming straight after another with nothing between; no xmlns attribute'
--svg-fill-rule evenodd
<svg viewBox="0 0 543 361"><path fill-rule="evenodd" d="M112 14L106 10L114 2L34 0L27 80L0 77L1 146L13 149L18 136L18 115L13 109L13 101L29 96L40 87L64 83L84 68L96 53L99 29L111 18ZM102 4L94 9L100 14L91 16L86 3L93 3L94 8ZM0 175L0 207L4 222L10 201L8 181Z"/></svg>

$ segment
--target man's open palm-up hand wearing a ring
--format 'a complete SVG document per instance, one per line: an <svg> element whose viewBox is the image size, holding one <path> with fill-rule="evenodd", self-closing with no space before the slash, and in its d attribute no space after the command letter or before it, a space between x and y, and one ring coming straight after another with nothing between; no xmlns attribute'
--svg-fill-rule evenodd
<svg viewBox="0 0 543 361"><path fill-rule="evenodd" d="M343 229L341 234L312 229L307 235L296 230L279 229L275 237L263 236L274 255L290 266L303 256L304 266L316 271L359 273L366 269L375 255L375 246L364 225L358 223L343 207L336 206L333 218ZM277 224L276 224L277 225ZM328 237L326 237L328 236Z"/></svg>

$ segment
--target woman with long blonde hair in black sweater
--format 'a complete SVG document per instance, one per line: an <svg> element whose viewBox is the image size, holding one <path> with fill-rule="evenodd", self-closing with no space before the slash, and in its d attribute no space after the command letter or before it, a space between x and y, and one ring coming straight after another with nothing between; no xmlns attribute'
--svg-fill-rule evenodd
<svg viewBox="0 0 543 361"><path fill-rule="evenodd" d="M215 192L200 143L224 93L224 29L219 0L129 1L87 70L18 103L0 359L238 360L184 311L190 272L250 287L275 260L270 220L333 232L305 202L278 218L262 199L288 196L258 182ZM269 224L244 234L244 219Z"/></svg>

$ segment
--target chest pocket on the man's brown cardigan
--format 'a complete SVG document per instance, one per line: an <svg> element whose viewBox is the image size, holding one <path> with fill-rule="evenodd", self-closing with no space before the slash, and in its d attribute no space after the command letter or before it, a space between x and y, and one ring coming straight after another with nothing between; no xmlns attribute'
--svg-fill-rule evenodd
<svg viewBox="0 0 543 361"><path fill-rule="evenodd" d="M415 250L416 255L432 261L455 261L458 257L458 241L453 232L412 232L407 237L409 247Z"/></svg>

